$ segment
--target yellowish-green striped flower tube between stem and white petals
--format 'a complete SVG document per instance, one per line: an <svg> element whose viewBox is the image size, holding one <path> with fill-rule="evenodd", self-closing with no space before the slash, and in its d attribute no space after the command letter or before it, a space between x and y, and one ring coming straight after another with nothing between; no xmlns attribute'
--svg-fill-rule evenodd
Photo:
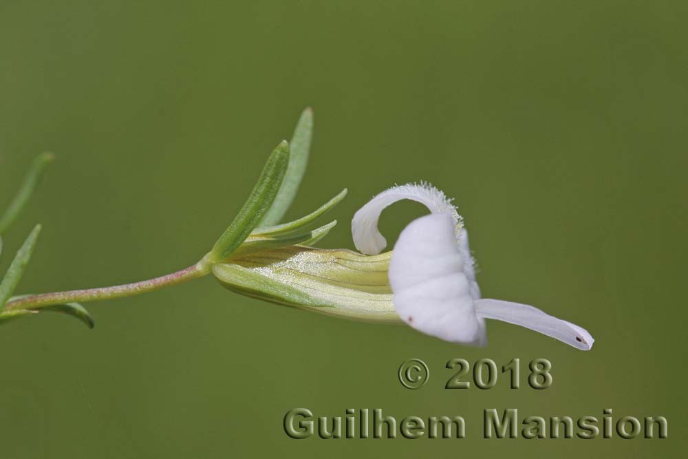
<svg viewBox="0 0 688 459"><path fill-rule="evenodd" d="M237 293L363 321L400 321L387 279L391 253L289 246L213 265L213 275Z"/></svg>

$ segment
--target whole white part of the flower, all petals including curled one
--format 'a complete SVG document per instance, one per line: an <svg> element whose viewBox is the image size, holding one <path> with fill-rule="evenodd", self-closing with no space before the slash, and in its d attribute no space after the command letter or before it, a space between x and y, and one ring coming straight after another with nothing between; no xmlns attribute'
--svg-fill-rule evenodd
<svg viewBox="0 0 688 459"><path fill-rule="evenodd" d="M356 212L352 235L358 250L376 255L385 248L378 218L385 207L404 199L424 204L431 215L414 220L402 231L389 262L392 302L403 321L445 341L485 345L484 319L497 319L574 348L592 348L594 339L578 325L533 306L480 298L462 219L444 193L429 184L394 186Z"/></svg>

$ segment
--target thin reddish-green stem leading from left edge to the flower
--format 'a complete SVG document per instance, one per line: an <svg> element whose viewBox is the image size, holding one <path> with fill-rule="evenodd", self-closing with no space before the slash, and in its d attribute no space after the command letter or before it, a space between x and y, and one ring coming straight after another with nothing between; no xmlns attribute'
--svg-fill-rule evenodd
<svg viewBox="0 0 688 459"><path fill-rule="evenodd" d="M163 287L175 286L190 281L191 279L203 277L210 273L210 269L210 264L208 264L208 261L204 258L197 264L189 266L189 268L184 268L176 273L155 277L146 281L134 282L133 284L28 295L8 302L5 306L5 310L36 309L55 304L131 297L133 295L153 292Z"/></svg>

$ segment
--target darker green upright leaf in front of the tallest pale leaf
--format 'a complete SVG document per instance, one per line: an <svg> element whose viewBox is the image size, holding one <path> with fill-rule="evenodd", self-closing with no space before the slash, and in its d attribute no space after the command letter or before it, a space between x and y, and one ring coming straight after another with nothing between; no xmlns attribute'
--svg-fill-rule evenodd
<svg viewBox="0 0 688 459"><path fill-rule="evenodd" d="M265 213L275 201L279 186L289 165L289 144L283 140L270 153L258 182L253 187L233 222L217 239L210 253L210 260L215 262L225 259L246 240Z"/></svg>

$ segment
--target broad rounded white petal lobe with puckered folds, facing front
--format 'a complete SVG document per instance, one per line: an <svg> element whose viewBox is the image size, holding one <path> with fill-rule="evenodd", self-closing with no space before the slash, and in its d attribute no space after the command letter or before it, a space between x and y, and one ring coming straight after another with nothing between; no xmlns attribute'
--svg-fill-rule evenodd
<svg viewBox="0 0 688 459"><path fill-rule="evenodd" d="M392 301L401 319L444 341L484 345L484 322L475 314L465 262L451 214L411 222L389 262Z"/></svg>

